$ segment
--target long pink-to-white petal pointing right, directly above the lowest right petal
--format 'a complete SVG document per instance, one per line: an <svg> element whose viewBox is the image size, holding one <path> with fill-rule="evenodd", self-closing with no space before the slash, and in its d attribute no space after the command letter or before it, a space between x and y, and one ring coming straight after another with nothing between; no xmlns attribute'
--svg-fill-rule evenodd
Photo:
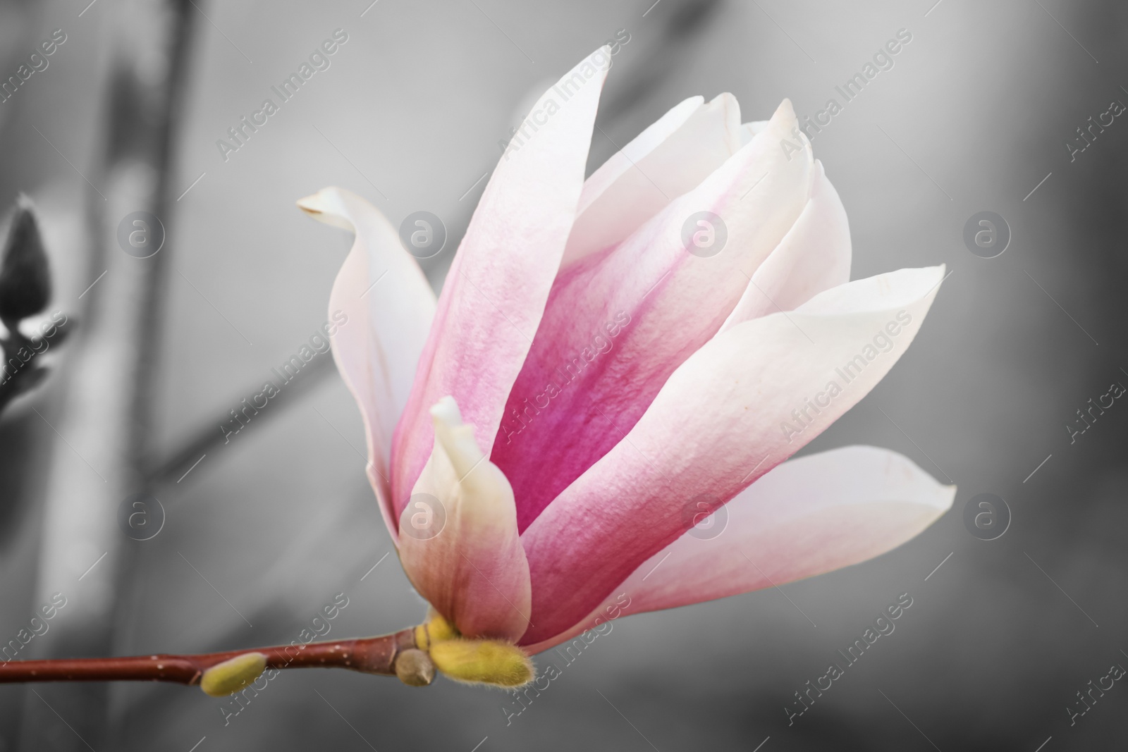
<svg viewBox="0 0 1128 752"><path fill-rule="evenodd" d="M687 360L522 534L535 625L525 642L572 627L680 537L687 504L716 508L857 404L908 347L942 278L931 267L851 282Z"/></svg>

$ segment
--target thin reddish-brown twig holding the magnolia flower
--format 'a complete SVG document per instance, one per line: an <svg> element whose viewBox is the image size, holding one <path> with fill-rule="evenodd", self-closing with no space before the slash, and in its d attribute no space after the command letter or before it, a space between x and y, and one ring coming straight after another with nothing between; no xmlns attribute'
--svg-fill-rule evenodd
<svg viewBox="0 0 1128 752"><path fill-rule="evenodd" d="M0 665L0 683L41 681L169 681L199 684L204 671L246 653L266 655L266 669L351 669L396 675L396 658L415 648L415 629L393 635L308 645L277 645L200 655L136 655L120 658L9 661Z"/></svg>

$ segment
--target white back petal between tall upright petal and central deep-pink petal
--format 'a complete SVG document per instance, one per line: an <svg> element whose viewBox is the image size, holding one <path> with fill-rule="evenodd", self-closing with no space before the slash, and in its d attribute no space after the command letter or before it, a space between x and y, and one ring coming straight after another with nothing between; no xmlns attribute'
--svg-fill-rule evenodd
<svg viewBox="0 0 1128 752"><path fill-rule="evenodd" d="M740 105L686 99L596 170L583 186L561 269L625 240L740 149Z"/></svg>

